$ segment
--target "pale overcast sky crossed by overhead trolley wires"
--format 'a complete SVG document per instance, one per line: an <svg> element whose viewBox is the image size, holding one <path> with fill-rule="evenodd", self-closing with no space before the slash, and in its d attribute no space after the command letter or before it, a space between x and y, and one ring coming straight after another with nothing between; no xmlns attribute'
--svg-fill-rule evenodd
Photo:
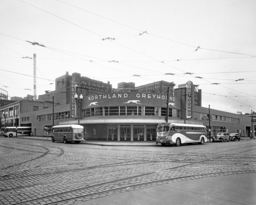
<svg viewBox="0 0 256 205"><path fill-rule="evenodd" d="M0 0L0 89L33 95L36 53L37 96L66 71L113 88L191 80L202 107L251 113L255 10L255 0Z"/></svg>

